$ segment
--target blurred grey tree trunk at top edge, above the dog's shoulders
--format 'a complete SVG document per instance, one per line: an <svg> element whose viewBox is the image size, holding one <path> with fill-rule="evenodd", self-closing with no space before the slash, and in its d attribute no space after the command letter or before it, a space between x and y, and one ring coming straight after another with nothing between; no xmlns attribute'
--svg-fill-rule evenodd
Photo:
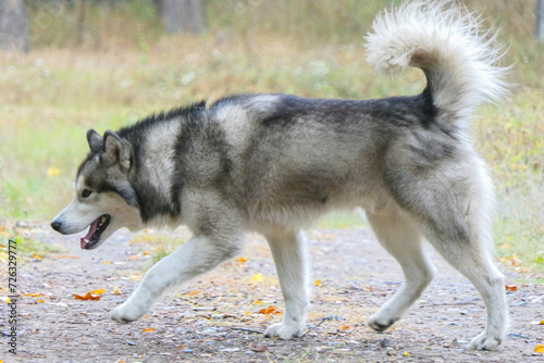
<svg viewBox="0 0 544 363"><path fill-rule="evenodd" d="M202 0L154 0L154 5L168 34L206 30Z"/></svg>

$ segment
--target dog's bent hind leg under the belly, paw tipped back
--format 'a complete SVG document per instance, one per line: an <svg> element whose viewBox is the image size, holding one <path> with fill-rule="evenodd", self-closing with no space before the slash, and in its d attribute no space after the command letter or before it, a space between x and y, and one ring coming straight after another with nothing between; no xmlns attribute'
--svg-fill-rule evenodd
<svg viewBox="0 0 544 363"><path fill-rule="evenodd" d="M403 267L406 278L395 296L369 320L373 329L383 331L421 296L435 268L423 249L418 225L397 206L383 214L367 212L367 218L379 241Z"/></svg>

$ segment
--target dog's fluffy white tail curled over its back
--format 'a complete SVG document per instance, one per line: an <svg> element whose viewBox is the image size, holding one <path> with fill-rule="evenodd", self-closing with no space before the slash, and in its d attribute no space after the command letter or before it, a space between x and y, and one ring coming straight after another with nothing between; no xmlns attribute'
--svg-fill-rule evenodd
<svg viewBox="0 0 544 363"><path fill-rule="evenodd" d="M508 93L508 67L495 35L457 1L416 0L384 11L366 37L367 61L379 71L423 70L433 104L453 122L470 116L484 101Z"/></svg>

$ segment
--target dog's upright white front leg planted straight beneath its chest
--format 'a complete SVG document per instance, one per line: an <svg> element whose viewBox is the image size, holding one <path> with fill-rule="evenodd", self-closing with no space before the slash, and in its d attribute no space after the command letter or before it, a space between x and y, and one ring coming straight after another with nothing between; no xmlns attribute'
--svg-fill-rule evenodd
<svg viewBox="0 0 544 363"><path fill-rule="evenodd" d="M265 234L274 258L280 286L285 300L283 321L267 328L264 336L292 339L306 327L308 273L306 238L300 231Z"/></svg>

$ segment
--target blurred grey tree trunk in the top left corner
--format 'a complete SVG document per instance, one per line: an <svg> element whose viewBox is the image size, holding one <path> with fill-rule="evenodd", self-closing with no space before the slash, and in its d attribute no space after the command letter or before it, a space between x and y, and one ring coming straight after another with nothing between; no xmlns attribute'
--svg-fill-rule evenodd
<svg viewBox="0 0 544 363"><path fill-rule="evenodd" d="M0 0L0 48L28 50L28 17L23 0Z"/></svg>

